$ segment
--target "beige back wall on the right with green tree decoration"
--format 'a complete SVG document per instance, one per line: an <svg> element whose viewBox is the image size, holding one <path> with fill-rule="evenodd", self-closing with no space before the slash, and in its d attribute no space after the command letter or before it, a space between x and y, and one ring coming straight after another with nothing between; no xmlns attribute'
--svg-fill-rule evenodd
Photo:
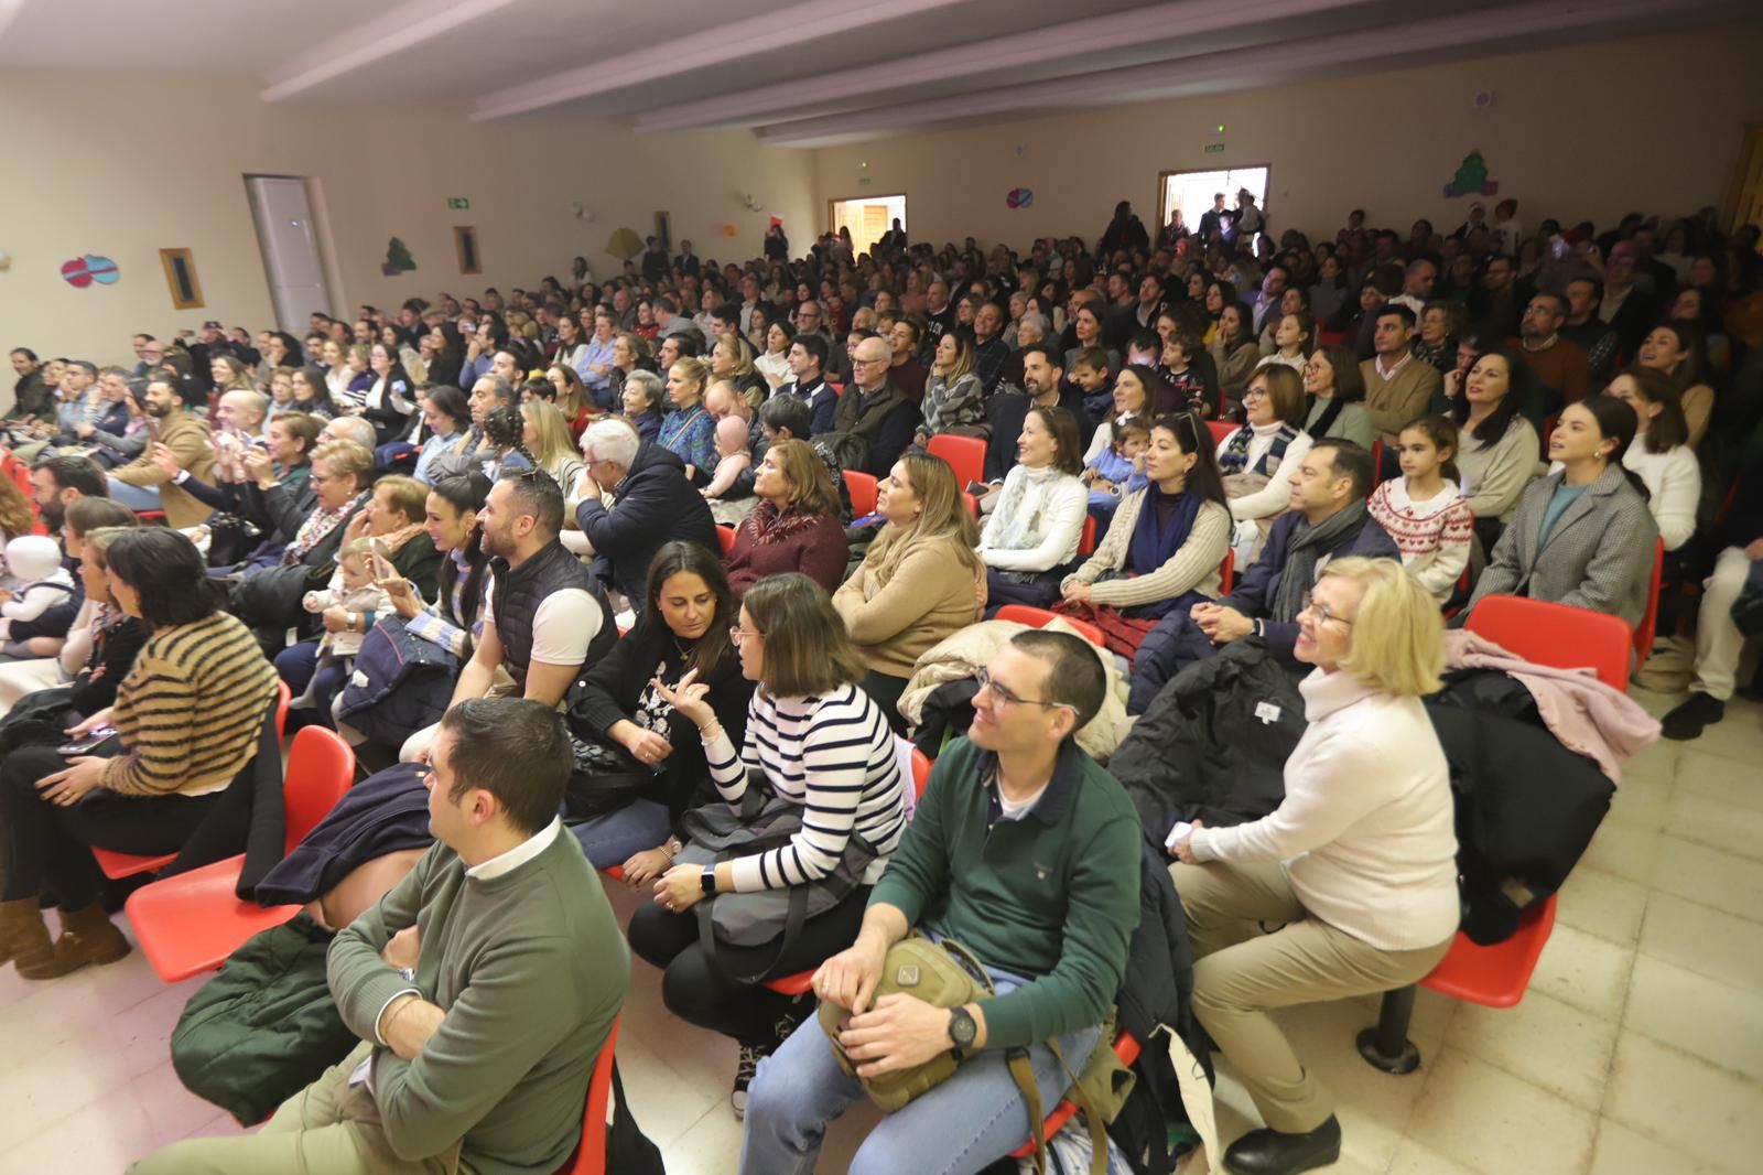
<svg viewBox="0 0 1763 1175"><path fill-rule="evenodd" d="M1044 235L1093 242L1118 199L1151 226L1160 171L1271 164L1276 231L1333 236L1363 206L1405 235L1423 215L1462 224L1469 199L1442 189L1479 148L1525 224L1680 215L1721 203L1742 125L1763 118L1759 44L1763 25L1724 25L832 146L815 159L818 206L906 192L911 240L1021 249ZM1476 108L1477 90L1493 104ZM1208 153L1216 141L1225 150ZM1035 201L1008 210L1019 185Z"/></svg>

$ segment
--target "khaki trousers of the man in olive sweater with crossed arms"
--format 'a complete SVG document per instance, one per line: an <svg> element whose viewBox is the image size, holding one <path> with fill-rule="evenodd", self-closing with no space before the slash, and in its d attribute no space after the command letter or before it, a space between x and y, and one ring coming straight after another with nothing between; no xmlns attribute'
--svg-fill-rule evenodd
<svg viewBox="0 0 1763 1175"><path fill-rule="evenodd" d="M455 1175L457 1141L416 1161L391 1150L374 1096L367 1085L349 1085L370 1052L372 1044L360 1044L284 1101L256 1134L171 1143L136 1163L130 1175Z"/></svg>

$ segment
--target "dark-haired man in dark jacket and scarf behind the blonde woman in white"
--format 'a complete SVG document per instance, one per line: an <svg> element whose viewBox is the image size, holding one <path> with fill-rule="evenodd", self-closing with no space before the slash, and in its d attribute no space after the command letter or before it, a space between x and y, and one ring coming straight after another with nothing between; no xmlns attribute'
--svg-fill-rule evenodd
<svg viewBox="0 0 1763 1175"><path fill-rule="evenodd" d="M1329 559L1366 556L1400 559L1396 542L1365 508L1377 485L1372 453L1352 441L1324 438L1310 446L1292 475L1291 510L1236 589L1216 603L1195 603L1157 623L1132 660L1128 715L1142 715L1164 685L1197 660L1245 637L1292 662L1298 612Z"/></svg>

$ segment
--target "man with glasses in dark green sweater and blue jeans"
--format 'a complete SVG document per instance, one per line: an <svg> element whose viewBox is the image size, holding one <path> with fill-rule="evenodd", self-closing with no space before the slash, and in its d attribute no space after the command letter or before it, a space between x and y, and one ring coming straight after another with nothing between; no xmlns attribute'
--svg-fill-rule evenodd
<svg viewBox="0 0 1763 1175"><path fill-rule="evenodd" d="M1095 1046L1139 924L1142 836L1127 792L1072 739L1104 693L1079 637L1024 632L1001 647L980 676L971 741L938 759L857 944L815 972L815 995L852 1009L839 1044L860 1076L947 1050L963 1059L871 1131L852 1175L986 1168L1030 1136L1005 1053L1028 1050L1051 1110L1068 1080L1044 1041L1058 1039L1074 1071ZM998 993L956 1009L906 993L876 1000L889 947L915 926L971 949ZM740 1170L813 1171L827 1124L862 1094L809 1020L760 1062Z"/></svg>

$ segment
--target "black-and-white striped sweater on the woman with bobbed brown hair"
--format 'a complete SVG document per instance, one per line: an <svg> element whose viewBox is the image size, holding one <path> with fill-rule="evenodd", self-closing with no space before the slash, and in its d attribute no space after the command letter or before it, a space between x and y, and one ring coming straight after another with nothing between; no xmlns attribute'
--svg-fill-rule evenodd
<svg viewBox="0 0 1763 1175"><path fill-rule="evenodd" d="M753 692L748 736L735 755L719 732L705 745L716 790L739 805L748 773L763 771L779 799L804 805L802 831L788 845L735 859L735 889L783 889L830 873L855 831L880 856L864 873L874 884L899 845L906 815L899 755L882 709L853 685L815 697Z"/></svg>

